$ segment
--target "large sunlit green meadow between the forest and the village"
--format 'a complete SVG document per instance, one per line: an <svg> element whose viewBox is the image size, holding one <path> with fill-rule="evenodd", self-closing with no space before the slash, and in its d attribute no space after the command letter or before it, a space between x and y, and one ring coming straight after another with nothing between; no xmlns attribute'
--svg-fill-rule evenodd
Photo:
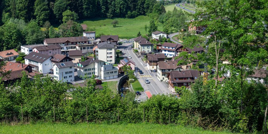
<svg viewBox="0 0 268 134"><path fill-rule="evenodd" d="M112 21L118 20L116 27L112 26ZM149 27L150 18L148 16L138 16L136 18L94 18L90 20L84 20L81 24L86 24L88 27L96 28L96 35L103 33L105 35L119 35L119 38L135 38L140 31L142 35L145 35L144 25ZM104 26L105 25L105 26ZM163 24L158 23L158 30L163 30ZM147 31L148 32L148 31Z"/></svg>

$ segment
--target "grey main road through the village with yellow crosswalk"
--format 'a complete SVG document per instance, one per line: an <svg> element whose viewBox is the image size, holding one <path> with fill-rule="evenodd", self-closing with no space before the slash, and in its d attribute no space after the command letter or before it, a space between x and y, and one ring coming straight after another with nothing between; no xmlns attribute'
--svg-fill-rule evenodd
<svg viewBox="0 0 268 134"><path fill-rule="evenodd" d="M120 49L123 53L126 53L126 57L129 55L132 57L131 60L133 60L136 64L136 70L141 70L144 72L144 74L138 74L138 81L141 83L141 86L144 87L145 92L149 92L150 94L171 94L171 91L169 90L167 84L165 82L160 82L157 77L156 73L152 73L147 68L147 64L144 63L140 58L136 56L136 54L133 53L132 48L129 46L132 46L132 43L125 43L120 46L118 46L118 49ZM145 79L148 79L150 81L149 84L145 83ZM148 94L147 94L148 96Z"/></svg>

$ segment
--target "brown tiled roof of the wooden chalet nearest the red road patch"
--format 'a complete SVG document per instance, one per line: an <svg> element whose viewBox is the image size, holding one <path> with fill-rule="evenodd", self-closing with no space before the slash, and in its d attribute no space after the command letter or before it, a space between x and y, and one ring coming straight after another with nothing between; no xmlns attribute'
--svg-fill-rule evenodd
<svg viewBox="0 0 268 134"><path fill-rule="evenodd" d="M182 71L170 71L168 77L170 76L170 80L176 83L183 83L183 82L194 82L200 76L199 71L197 70L182 70ZM175 80L174 78L188 78L190 80Z"/></svg>

